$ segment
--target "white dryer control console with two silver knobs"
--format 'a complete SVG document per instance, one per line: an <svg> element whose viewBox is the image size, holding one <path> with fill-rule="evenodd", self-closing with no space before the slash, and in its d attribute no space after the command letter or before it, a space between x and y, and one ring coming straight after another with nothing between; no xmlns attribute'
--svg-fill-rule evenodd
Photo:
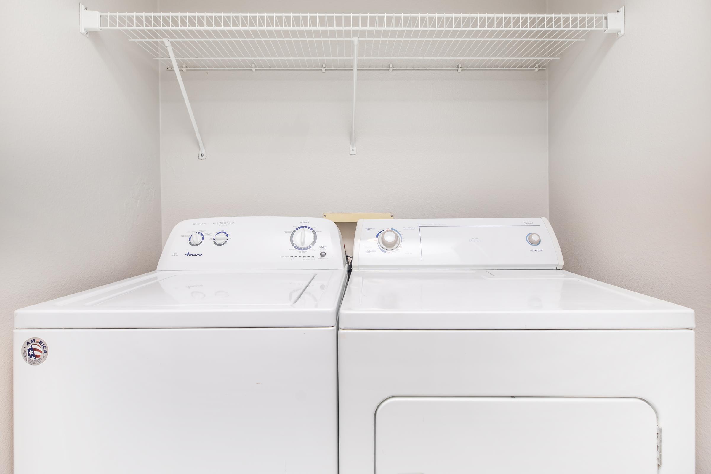
<svg viewBox="0 0 711 474"><path fill-rule="evenodd" d="M560 269L545 217L359 220L353 269Z"/></svg>

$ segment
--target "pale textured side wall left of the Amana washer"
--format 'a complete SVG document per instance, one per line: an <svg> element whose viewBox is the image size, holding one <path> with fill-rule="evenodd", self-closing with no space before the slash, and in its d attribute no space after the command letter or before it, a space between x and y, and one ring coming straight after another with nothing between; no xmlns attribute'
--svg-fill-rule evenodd
<svg viewBox="0 0 711 474"><path fill-rule="evenodd" d="M0 2L1 473L13 311L155 269L161 249L157 70L120 33L82 37L78 3ZM155 8L91 3L109 5Z"/></svg>

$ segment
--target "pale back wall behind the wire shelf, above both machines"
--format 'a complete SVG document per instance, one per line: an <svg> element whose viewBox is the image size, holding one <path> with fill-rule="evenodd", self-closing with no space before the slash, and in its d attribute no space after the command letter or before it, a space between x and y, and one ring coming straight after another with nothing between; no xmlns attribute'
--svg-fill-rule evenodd
<svg viewBox="0 0 711 474"><path fill-rule="evenodd" d="M161 0L161 10L194 2ZM541 12L542 0L202 1L204 11ZM186 72L198 148L176 78L161 72L163 232L187 217L395 212L547 215L545 72ZM350 246L351 242L348 242Z"/></svg>

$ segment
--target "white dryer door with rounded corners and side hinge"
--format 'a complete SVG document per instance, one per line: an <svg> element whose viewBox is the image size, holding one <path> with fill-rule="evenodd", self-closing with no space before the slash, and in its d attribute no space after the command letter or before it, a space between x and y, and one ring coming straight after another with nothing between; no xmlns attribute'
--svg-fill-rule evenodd
<svg viewBox="0 0 711 474"><path fill-rule="evenodd" d="M636 398L392 397L377 474L656 474L657 416Z"/></svg>

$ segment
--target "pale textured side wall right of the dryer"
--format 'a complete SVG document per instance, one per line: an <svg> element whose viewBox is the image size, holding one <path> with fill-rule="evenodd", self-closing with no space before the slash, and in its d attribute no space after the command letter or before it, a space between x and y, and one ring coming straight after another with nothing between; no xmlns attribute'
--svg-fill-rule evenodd
<svg viewBox="0 0 711 474"><path fill-rule="evenodd" d="M697 473L711 472L711 2L626 8L549 70L550 221L565 269L696 311Z"/></svg>

